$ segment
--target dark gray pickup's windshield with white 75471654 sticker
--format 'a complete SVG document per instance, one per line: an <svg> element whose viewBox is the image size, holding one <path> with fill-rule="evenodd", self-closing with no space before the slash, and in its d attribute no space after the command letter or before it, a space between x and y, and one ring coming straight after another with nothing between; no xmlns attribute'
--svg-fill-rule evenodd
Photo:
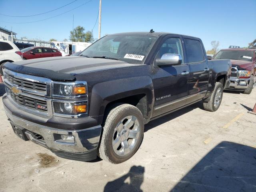
<svg viewBox="0 0 256 192"><path fill-rule="evenodd" d="M86 48L80 56L103 57L142 64L156 37L146 35L108 35Z"/></svg>

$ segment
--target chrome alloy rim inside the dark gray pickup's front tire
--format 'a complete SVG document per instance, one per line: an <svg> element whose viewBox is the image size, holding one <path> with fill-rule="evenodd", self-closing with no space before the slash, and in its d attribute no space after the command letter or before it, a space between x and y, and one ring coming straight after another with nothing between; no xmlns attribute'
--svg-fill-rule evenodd
<svg viewBox="0 0 256 192"><path fill-rule="evenodd" d="M116 126L112 137L112 147L117 155L128 154L136 146L140 136L138 119L129 115L123 118Z"/></svg>

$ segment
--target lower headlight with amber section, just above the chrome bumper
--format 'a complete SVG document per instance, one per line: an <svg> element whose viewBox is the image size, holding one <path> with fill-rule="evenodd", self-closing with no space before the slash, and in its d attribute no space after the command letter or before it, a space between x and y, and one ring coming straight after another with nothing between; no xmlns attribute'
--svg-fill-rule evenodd
<svg viewBox="0 0 256 192"><path fill-rule="evenodd" d="M58 114L66 115L77 115L87 112L86 103L64 103L64 102L53 102L54 112Z"/></svg>

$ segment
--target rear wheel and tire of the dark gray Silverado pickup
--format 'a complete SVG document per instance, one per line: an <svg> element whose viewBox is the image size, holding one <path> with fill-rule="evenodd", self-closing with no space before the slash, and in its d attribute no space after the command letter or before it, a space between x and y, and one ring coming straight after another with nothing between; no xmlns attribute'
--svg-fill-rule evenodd
<svg viewBox="0 0 256 192"><path fill-rule="evenodd" d="M223 86L220 82L216 82L209 101L204 101L204 110L214 112L220 107L223 96Z"/></svg>

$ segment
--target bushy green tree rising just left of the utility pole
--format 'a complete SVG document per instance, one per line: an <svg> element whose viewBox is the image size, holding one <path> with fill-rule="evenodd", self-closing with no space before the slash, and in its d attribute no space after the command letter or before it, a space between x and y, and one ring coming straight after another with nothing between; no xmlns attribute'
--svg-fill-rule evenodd
<svg viewBox="0 0 256 192"><path fill-rule="evenodd" d="M74 42L91 42L92 32L87 31L84 33L84 27L77 26L74 28L74 32L70 31L69 39Z"/></svg>

